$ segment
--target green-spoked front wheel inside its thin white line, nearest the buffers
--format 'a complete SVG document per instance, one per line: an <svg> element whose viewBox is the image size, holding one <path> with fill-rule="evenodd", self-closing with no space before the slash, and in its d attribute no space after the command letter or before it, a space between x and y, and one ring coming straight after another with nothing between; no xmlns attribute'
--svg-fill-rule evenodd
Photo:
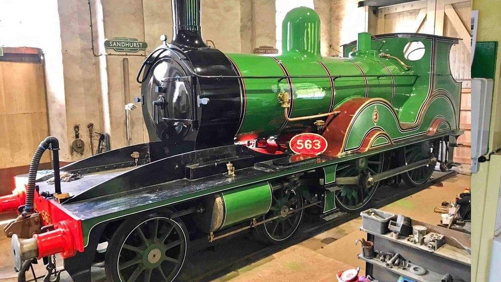
<svg viewBox="0 0 501 282"><path fill-rule="evenodd" d="M181 226L166 217L148 219L134 228L118 254L122 282L172 281L186 256Z"/></svg>

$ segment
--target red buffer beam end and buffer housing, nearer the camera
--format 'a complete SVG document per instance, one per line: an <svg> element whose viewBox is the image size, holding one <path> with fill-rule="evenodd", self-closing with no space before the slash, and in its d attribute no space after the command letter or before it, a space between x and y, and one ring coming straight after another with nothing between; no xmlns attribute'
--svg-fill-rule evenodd
<svg viewBox="0 0 501 282"><path fill-rule="evenodd" d="M39 257L62 253L64 258L84 251L82 221L65 210L53 198L46 200L35 192L35 210L44 225L54 224L54 230L35 235L39 243Z"/></svg>

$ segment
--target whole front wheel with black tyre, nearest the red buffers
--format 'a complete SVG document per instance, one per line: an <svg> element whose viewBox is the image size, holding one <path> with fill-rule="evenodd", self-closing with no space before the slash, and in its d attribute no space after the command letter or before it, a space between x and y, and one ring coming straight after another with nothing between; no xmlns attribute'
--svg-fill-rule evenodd
<svg viewBox="0 0 501 282"><path fill-rule="evenodd" d="M126 220L108 243L105 270L113 282L170 282L186 258L182 221L162 216Z"/></svg>

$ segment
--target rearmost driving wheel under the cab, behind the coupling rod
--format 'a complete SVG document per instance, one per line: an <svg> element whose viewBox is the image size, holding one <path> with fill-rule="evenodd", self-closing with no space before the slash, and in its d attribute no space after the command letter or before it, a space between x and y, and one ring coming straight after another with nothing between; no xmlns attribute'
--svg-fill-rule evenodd
<svg viewBox="0 0 501 282"><path fill-rule="evenodd" d="M406 146L403 153L405 165L429 159L434 155L434 151L433 144L430 142ZM434 170L433 165L426 165L405 174L412 183L420 185L428 181Z"/></svg>

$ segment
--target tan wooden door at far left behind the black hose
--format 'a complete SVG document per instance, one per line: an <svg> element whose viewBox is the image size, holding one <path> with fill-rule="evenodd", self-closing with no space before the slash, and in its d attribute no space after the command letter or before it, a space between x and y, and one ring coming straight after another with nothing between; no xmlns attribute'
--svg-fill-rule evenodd
<svg viewBox="0 0 501 282"><path fill-rule="evenodd" d="M44 66L35 48L3 48L0 57L0 194L14 189L13 177L28 173L41 140L49 135ZM41 168L48 168L44 154Z"/></svg>

